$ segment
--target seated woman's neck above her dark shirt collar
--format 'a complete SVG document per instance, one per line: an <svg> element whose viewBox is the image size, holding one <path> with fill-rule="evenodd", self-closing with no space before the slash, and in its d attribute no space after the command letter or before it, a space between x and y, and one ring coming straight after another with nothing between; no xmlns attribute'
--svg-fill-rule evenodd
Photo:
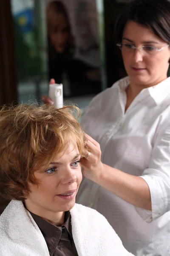
<svg viewBox="0 0 170 256"><path fill-rule="evenodd" d="M52 212L46 209L42 209L37 205L31 205L25 200L25 206L28 211L40 216L46 221L50 222L55 226L62 226L64 224L65 212Z"/></svg>

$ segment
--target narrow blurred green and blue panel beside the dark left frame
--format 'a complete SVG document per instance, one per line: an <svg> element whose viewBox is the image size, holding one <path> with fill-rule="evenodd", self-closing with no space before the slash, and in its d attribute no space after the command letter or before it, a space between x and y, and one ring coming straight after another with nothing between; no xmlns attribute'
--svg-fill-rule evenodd
<svg viewBox="0 0 170 256"><path fill-rule="evenodd" d="M40 73L36 45L34 3L32 0L11 0L18 81L32 79Z"/></svg>

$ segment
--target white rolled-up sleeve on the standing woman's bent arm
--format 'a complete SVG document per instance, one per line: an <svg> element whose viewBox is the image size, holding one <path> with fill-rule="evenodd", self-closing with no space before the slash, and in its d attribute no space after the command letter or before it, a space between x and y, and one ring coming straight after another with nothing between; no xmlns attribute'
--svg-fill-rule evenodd
<svg viewBox="0 0 170 256"><path fill-rule="evenodd" d="M136 211L149 223L170 211L170 123L158 133L150 163L141 177L150 189L152 211L138 207Z"/></svg>

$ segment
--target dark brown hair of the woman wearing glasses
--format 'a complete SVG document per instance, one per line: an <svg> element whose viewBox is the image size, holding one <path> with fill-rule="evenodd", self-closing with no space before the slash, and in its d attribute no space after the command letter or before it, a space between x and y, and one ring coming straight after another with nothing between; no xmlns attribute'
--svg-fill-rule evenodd
<svg viewBox="0 0 170 256"><path fill-rule="evenodd" d="M116 20L115 42L122 42L128 21L151 29L155 35L170 44L170 2L168 0L134 0L125 5Z"/></svg>

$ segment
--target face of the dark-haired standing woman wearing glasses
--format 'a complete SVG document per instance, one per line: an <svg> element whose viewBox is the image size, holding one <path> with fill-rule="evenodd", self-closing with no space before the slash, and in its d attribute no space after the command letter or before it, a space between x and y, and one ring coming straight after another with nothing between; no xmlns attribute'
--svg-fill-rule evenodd
<svg viewBox="0 0 170 256"><path fill-rule="evenodd" d="M122 43L133 44L135 47L154 46L159 49L167 45L150 29L133 21L127 22ZM145 53L144 50L129 51L122 47L122 58L126 72L130 76L130 82L135 85L149 87L167 78L168 61L170 59L169 47L152 55Z"/></svg>

